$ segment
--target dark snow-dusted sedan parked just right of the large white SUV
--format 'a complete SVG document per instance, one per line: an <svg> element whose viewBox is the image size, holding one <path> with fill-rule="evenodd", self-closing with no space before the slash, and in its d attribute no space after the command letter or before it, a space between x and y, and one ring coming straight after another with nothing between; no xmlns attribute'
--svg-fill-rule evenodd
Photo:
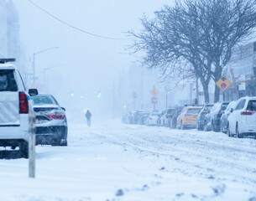
<svg viewBox="0 0 256 201"><path fill-rule="evenodd" d="M53 95L33 95L36 116L36 144L67 146L65 108L60 107Z"/></svg>

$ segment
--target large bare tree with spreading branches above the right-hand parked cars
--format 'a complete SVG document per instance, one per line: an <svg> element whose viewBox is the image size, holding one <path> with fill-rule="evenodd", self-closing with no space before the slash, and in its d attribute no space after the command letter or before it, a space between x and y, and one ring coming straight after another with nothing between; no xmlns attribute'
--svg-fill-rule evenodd
<svg viewBox="0 0 256 201"><path fill-rule="evenodd" d="M141 19L144 29L130 32L136 39L133 48L146 52L144 64L162 74L200 79L205 101L208 85L217 81L229 62L232 49L243 42L256 27L256 0L184 0L165 6L155 18ZM216 86L214 101L219 101Z"/></svg>

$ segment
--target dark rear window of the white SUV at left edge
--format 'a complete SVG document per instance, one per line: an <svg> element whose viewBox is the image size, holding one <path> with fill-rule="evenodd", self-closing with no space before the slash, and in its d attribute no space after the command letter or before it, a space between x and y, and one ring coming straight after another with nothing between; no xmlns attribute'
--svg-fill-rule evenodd
<svg viewBox="0 0 256 201"><path fill-rule="evenodd" d="M0 70L0 91L18 90L13 71L14 70Z"/></svg>

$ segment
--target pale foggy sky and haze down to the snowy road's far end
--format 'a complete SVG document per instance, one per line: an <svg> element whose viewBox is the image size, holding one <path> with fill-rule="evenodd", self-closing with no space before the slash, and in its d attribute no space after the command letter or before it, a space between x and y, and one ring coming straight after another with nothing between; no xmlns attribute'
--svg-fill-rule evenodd
<svg viewBox="0 0 256 201"><path fill-rule="evenodd" d="M116 38L102 39L82 33L60 23L27 0L13 0L19 14L20 39L30 64L26 72L33 73L34 53L53 48L36 54L34 58L39 92L55 95L60 106L64 106L70 114L68 117L76 119L83 118L83 112L87 109L91 111L93 118L115 117L127 110L140 109L142 104L144 109L151 109L149 90L153 85L158 89L161 87L159 75L143 70L136 63L138 58L128 54L125 46L132 41L126 32L142 28L139 18L144 13L149 18L153 17L155 10L172 1L33 2L76 28ZM123 82L125 79L128 81ZM133 80L137 80L133 84L138 85L139 89L135 89L136 85L128 84ZM28 85L31 85L31 80ZM99 92L102 94L100 98L97 97ZM134 92L138 98L136 106L131 106L128 102L131 102ZM159 102L159 106L165 106L165 102L162 105Z"/></svg>

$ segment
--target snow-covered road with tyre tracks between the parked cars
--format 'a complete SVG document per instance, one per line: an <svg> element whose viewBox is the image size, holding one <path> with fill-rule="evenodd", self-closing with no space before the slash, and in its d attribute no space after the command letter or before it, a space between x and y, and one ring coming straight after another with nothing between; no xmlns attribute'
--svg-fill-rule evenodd
<svg viewBox="0 0 256 201"><path fill-rule="evenodd" d="M70 123L69 147L0 160L0 201L256 201L256 141L165 127Z"/></svg>

